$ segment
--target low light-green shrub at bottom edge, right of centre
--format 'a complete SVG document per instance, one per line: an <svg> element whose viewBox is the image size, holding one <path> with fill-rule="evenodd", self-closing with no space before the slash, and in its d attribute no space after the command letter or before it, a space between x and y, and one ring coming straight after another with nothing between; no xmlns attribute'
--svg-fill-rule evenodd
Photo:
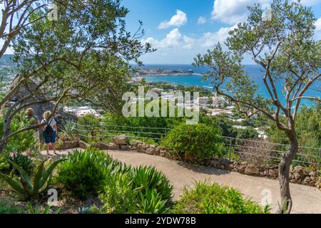
<svg viewBox="0 0 321 228"><path fill-rule="evenodd" d="M197 182L193 190L185 188L183 197L175 204L175 214L263 214L264 210L255 202L244 199L233 188L221 187L209 182Z"/></svg>

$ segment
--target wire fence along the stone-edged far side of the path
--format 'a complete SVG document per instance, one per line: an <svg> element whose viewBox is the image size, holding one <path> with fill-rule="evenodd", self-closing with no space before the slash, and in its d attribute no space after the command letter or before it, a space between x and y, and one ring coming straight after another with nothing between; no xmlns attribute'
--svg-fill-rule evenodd
<svg viewBox="0 0 321 228"><path fill-rule="evenodd" d="M121 134L126 134L129 138L138 140L154 140L161 142L170 128L148 128L133 127L126 125L107 125L101 123L99 125L80 125L74 123L77 135L83 139L89 140L106 140L106 138L114 138ZM249 140L240 138L231 138L217 135L218 140L225 145L225 154L228 159L234 159L238 155L240 160L250 160L250 162L258 163L268 162L271 165L277 164L282 159L282 155L290 150L290 145L267 142L266 140ZM321 148L299 147L295 159L292 161L295 165L313 165L320 170L321 168Z"/></svg>

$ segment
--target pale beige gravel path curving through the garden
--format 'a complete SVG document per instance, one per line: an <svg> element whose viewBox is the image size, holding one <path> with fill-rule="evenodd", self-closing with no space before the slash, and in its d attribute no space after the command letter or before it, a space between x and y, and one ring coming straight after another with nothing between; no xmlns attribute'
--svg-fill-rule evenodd
<svg viewBox="0 0 321 228"><path fill-rule="evenodd" d="M272 195L272 212L277 209L280 201L280 190L277 180L262 177L242 175L238 172L228 172L212 167L203 167L168 160L164 157L146 155L138 152L108 151L113 158L128 165L152 165L157 170L164 172L174 186L174 199L179 199L185 186L193 186L199 180L211 180L220 185L228 185L242 192L245 197L252 197L258 203L264 197L264 192ZM314 187L304 185L290 185L293 208L292 213L317 213L321 214L321 192Z"/></svg>

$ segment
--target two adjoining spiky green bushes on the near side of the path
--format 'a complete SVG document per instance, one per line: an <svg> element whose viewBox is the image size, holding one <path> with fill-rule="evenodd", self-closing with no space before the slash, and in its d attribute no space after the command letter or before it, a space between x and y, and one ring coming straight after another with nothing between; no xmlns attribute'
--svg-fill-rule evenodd
<svg viewBox="0 0 321 228"><path fill-rule="evenodd" d="M68 155L58 167L56 182L79 199L99 195L106 213L166 212L173 190L165 175L155 168L134 169L96 149L75 150Z"/></svg>

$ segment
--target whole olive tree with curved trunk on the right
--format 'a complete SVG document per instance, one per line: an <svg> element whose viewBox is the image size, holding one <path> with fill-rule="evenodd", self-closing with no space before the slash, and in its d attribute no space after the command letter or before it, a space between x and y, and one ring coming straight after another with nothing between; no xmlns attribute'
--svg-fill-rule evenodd
<svg viewBox="0 0 321 228"><path fill-rule="evenodd" d="M282 154L279 165L279 212L290 213L289 172L299 148L295 120L302 100L320 100L307 93L320 82L321 42L313 38L312 9L300 1L274 0L267 14L259 4L248 9L247 21L230 31L225 42L228 51L218 43L212 51L198 55L195 66L210 69L205 78L212 79L218 95L229 98L242 112L266 115L287 135L290 150ZM257 93L258 85L242 64L244 56L251 56L262 68L268 98Z"/></svg>

